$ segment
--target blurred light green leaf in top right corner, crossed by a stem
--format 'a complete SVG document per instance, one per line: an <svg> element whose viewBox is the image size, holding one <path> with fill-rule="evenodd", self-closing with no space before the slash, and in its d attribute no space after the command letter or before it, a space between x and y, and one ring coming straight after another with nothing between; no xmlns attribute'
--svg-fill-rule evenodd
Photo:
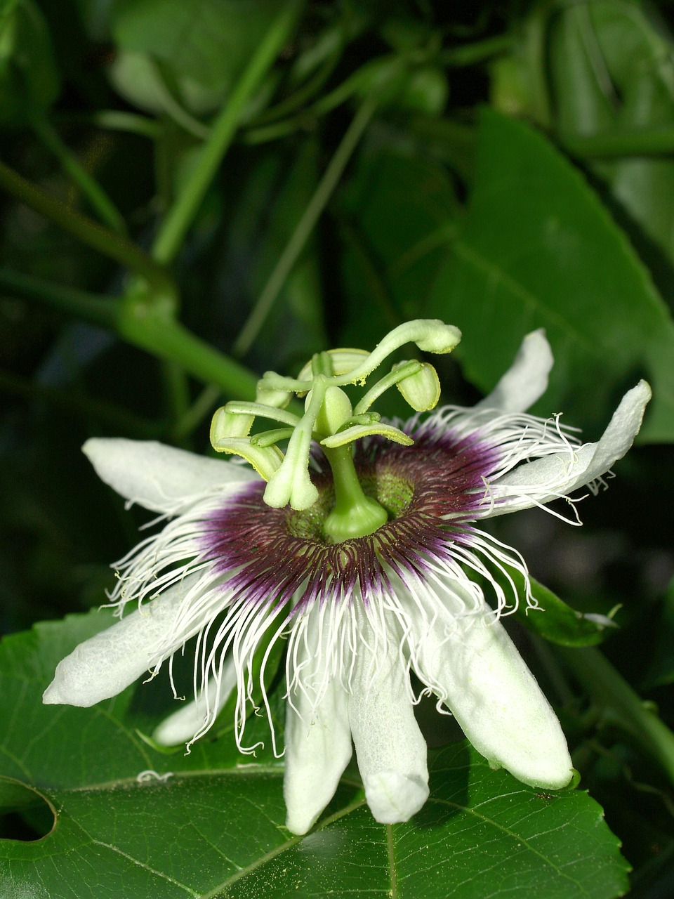
<svg viewBox="0 0 674 899"><path fill-rule="evenodd" d="M652 8L606 0L565 7L554 18L549 42L556 129L563 138L669 127L674 46ZM590 169L647 236L640 249L660 270L667 298L674 288L674 161L631 156L594 162ZM666 255L669 271L662 271L663 260L659 264L652 243Z"/></svg>

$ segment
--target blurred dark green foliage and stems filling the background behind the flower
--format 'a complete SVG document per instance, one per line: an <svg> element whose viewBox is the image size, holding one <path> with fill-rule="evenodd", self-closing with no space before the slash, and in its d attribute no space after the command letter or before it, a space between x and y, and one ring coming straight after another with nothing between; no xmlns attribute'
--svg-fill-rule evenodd
<svg viewBox="0 0 674 899"><path fill-rule="evenodd" d="M577 609L614 614L603 649L671 725L673 16L0 0L2 631L97 606L136 540L142 514L93 476L88 436L206 452L213 409L264 370L416 316L463 330L440 373L443 400L469 404L545 327L538 413L596 439L638 378L654 399L582 530L532 512L498 534ZM634 895L671 895L671 786L564 690Z"/></svg>

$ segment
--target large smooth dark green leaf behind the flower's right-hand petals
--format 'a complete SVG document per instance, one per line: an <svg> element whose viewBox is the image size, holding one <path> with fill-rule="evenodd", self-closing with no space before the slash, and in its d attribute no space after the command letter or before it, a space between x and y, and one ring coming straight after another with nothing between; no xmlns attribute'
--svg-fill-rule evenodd
<svg viewBox="0 0 674 899"><path fill-rule="evenodd" d="M645 374L640 439L674 440L674 325L625 235L554 147L484 111L466 219L427 314L458 325L467 377L487 391L524 334L544 326L556 364L546 414L597 432Z"/></svg>

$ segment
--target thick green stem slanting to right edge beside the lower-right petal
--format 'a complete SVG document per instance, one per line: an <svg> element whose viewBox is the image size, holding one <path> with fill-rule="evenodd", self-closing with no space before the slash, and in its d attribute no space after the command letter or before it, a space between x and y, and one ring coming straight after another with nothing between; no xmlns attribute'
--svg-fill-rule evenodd
<svg viewBox="0 0 674 899"><path fill-rule="evenodd" d="M674 733L643 702L607 658L594 648L555 647L607 724L629 734L674 784Z"/></svg>

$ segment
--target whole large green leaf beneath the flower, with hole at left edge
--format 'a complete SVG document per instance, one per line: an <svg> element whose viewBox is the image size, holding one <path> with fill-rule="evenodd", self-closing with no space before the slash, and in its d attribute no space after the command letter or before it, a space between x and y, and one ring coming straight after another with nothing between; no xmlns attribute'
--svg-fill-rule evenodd
<svg viewBox="0 0 674 899"><path fill-rule="evenodd" d="M625 891L625 860L595 802L524 787L467 743L433 758L430 799L411 822L376 823L347 772L314 831L297 837L283 824L282 767L244 763L231 738L187 757L156 752L138 737L150 717L132 690L91 709L43 707L56 661L109 622L107 613L74 616L0 645L0 805L56 809L43 839L0 841L0 895L612 899ZM139 777L144 770L155 774Z"/></svg>

